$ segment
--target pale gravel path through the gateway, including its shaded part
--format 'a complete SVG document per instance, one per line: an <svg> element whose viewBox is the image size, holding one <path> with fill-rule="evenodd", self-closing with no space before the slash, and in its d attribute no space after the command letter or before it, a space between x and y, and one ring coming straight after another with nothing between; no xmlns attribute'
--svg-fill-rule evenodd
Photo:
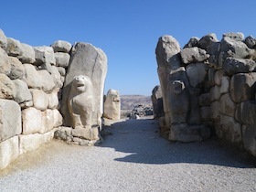
<svg viewBox="0 0 256 192"><path fill-rule="evenodd" d="M101 146L52 141L22 155L0 191L256 191L254 160L214 140L170 143L150 119L106 130Z"/></svg>

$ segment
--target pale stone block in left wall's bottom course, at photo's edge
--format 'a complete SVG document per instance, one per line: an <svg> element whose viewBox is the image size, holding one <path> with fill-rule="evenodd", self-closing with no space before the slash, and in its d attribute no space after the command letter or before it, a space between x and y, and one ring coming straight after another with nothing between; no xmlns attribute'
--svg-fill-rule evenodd
<svg viewBox="0 0 256 192"><path fill-rule="evenodd" d="M11 164L19 155L18 136L0 143L0 170Z"/></svg>

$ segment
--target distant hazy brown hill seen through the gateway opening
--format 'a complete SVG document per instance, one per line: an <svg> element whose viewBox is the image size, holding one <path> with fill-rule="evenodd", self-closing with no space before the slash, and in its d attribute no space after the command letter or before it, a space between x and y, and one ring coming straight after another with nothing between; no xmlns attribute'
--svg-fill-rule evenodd
<svg viewBox="0 0 256 192"><path fill-rule="evenodd" d="M138 104L151 105L151 96L144 95L121 95L121 110L133 110Z"/></svg>

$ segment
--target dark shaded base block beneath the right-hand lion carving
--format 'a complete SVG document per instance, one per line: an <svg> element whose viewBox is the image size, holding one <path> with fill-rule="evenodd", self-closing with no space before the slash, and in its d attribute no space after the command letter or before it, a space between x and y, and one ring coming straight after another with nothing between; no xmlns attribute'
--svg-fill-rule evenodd
<svg viewBox="0 0 256 192"><path fill-rule="evenodd" d="M185 123L172 125L170 137L171 141L178 142L200 142L208 139L210 129L206 125L187 125Z"/></svg>

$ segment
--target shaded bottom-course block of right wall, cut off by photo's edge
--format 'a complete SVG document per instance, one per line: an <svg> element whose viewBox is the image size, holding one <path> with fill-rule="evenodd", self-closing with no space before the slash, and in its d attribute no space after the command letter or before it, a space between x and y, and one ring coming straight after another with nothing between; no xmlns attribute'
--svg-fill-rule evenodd
<svg viewBox="0 0 256 192"><path fill-rule="evenodd" d="M256 125L243 125L242 138L244 148L256 156Z"/></svg>

